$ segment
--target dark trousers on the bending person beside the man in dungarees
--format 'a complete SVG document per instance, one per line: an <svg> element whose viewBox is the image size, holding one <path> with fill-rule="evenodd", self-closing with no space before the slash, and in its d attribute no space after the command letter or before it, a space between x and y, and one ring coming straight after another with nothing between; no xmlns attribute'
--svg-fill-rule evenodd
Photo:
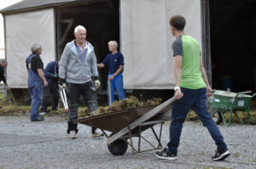
<svg viewBox="0 0 256 169"><path fill-rule="evenodd" d="M51 95L51 109L57 110L59 103L59 87L57 82L51 82L48 87L44 87L41 112L47 112L49 94Z"/></svg>

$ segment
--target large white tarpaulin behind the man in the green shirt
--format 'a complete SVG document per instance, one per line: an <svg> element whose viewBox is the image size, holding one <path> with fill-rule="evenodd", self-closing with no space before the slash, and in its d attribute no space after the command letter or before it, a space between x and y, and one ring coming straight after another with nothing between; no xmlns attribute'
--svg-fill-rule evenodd
<svg viewBox="0 0 256 169"><path fill-rule="evenodd" d="M200 0L120 1L121 52L126 89L173 88L172 37L169 20L182 14L185 33L201 45Z"/></svg>

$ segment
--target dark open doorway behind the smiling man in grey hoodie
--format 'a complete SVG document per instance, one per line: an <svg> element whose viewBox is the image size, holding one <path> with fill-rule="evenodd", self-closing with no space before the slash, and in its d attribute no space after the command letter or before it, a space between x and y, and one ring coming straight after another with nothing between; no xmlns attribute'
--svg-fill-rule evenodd
<svg viewBox="0 0 256 169"><path fill-rule="evenodd" d="M108 42L119 43L119 0L100 1L56 9L58 59L67 42L74 39L73 30L77 25L84 25L86 40L94 48L97 62L101 63L108 51ZM108 69L99 70L102 90L107 88Z"/></svg>

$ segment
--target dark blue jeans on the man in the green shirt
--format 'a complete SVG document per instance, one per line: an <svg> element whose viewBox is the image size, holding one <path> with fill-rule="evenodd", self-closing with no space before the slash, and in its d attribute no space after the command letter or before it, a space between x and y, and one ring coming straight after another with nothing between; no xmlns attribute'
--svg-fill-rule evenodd
<svg viewBox="0 0 256 169"><path fill-rule="evenodd" d="M172 104L172 123L170 126L170 142L168 150L177 155L177 147L183 128L183 122L192 109L199 116L204 127L207 127L218 149L227 149L217 124L212 120L212 115L207 112L207 88L188 89L181 87L183 98ZM199 138L200 139L200 138Z"/></svg>

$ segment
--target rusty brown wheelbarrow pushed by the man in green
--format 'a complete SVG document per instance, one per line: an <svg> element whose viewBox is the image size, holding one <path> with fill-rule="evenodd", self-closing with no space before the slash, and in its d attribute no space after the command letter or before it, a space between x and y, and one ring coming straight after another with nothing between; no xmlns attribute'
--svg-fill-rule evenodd
<svg viewBox="0 0 256 169"><path fill-rule="evenodd" d="M172 102L174 100L175 98L168 99L158 106L138 106L128 110L82 118L74 122L101 129L108 138L108 150L113 155L124 155L128 145L131 147L133 153L152 150L152 148L161 149L162 125L172 115ZM156 124L160 124L159 134L154 130L154 125ZM142 132L149 128L154 134L157 145L150 143L142 135ZM106 131L111 133L108 134ZM133 143L132 138L134 137L138 138L137 146ZM142 139L151 145L151 149L141 149Z"/></svg>

